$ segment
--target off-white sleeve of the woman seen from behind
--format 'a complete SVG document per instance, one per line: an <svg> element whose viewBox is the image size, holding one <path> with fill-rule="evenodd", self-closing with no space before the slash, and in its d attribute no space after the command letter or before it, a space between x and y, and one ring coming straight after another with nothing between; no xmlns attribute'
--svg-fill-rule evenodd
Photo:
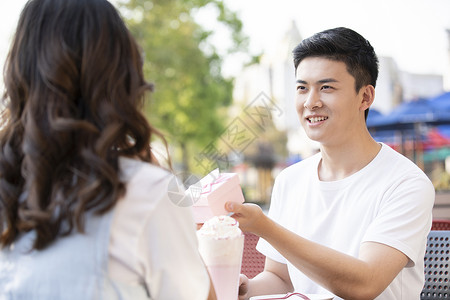
<svg viewBox="0 0 450 300"><path fill-rule="evenodd" d="M207 298L210 280L198 252L190 208L164 196L145 224L139 249L151 299Z"/></svg>

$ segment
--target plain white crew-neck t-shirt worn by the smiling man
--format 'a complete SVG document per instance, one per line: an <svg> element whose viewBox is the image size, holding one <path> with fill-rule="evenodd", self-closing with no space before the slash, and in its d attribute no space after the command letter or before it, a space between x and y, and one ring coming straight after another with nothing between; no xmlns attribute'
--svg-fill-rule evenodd
<svg viewBox="0 0 450 300"><path fill-rule="evenodd" d="M277 176L269 217L304 238L354 257L368 241L398 249L409 262L376 299L419 299L435 197L428 177L385 144L367 166L342 180L320 181L320 160L318 153ZM327 292L265 240L260 239L257 249L287 264L296 291Z"/></svg>

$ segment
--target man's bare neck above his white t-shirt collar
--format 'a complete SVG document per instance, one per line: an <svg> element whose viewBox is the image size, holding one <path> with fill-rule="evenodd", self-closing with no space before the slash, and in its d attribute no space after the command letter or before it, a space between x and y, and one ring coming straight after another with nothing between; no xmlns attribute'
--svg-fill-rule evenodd
<svg viewBox="0 0 450 300"><path fill-rule="evenodd" d="M378 154L381 145L370 136L339 145L321 145L322 160L319 163L319 178L335 181L346 178L367 166Z"/></svg>

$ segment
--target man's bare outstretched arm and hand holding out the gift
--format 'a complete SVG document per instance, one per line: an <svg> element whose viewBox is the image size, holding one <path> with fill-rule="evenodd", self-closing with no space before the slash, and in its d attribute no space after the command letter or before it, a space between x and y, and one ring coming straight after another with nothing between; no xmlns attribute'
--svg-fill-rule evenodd
<svg viewBox="0 0 450 300"><path fill-rule="evenodd" d="M227 209L244 231L261 236L308 277L344 299L374 299L408 262L402 252L374 242L364 243L355 258L296 235L257 205L229 204Z"/></svg>

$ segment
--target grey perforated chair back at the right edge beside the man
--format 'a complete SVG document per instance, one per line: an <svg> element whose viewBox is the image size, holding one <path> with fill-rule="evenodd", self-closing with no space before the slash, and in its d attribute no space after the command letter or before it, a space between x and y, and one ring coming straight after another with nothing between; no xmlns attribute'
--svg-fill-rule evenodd
<svg viewBox="0 0 450 300"><path fill-rule="evenodd" d="M450 299L450 230L432 230L425 253L421 300Z"/></svg>

